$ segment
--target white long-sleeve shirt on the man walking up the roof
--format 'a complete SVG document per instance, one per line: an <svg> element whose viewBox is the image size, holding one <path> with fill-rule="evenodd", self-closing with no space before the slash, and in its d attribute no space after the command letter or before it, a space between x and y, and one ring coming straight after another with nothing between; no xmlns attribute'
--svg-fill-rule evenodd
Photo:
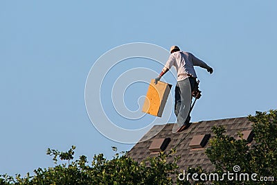
<svg viewBox="0 0 277 185"><path fill-rule="evenodd" d="M197 78L193 66L199 66L204 69L210 68L205 62L199 60L193 54L185 51L177 51L171 53L168 61L165 64L165 67L163 68L163 71L166 71L166 69L170 69L172 66L174 66L177 71L177 81L184 80L189 76Z"/></svg>

